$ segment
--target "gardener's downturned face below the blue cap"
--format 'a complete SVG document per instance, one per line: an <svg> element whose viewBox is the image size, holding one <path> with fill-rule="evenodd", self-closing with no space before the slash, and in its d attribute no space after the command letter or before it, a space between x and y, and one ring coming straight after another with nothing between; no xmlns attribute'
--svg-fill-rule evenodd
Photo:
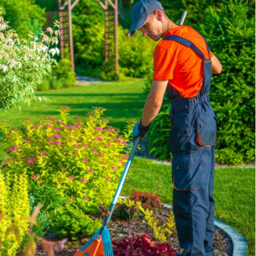
<svg viewBox="0 0 256 256"><path fill-rule="evenodd" d="M148 36L154 41L158 41L162 36L161 22L155 15L149 15L139 30L142 31L143 36Z"/></svg>

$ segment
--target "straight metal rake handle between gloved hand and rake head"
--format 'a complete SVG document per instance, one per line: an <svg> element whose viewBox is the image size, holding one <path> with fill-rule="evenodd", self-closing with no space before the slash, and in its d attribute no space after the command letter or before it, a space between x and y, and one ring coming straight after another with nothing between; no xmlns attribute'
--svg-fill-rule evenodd
<svg viewBox="0 0 256 256"><path fill-rule="evenodd" d="M114 208L116 206L117 199L118 199L118 197L119 197L119 195L121 193L121 190L122 190L125 178L126 178L126 176L128 174L128 171L130 169L130 166L131 166L131 163L132 163L132 159L133 159L133 157L135 155L135 151L136 151L136 149L138 147L139 142L140 142L140 137L136 138L134 143L133 143L133 147L132 147L130 156L129 156L128 161L127 161L127 163L125 165L122 177L121 177L121 179L119 181L119 184L118 184L118 187L116 189L116 193L115 193L114 198L112 200L112 203L111 203L111 205L110 205L110 207L108 209L110 214L105 218L104 223L103 223L103 227L106 227L108 225L110 219L111 219L111 216L113 214ZM102 228L102 233L103 232L104 232L104 229ZM100 232L100 235L102 235L102 233Z"/></svg>

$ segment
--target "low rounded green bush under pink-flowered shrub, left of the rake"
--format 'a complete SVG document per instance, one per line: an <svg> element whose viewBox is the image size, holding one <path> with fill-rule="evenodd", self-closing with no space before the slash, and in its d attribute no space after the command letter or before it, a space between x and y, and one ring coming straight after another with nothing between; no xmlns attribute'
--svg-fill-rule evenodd
<svg viewBox="0 0 256 256"><path fill-rule="evenodd" d="M59 234L61 238L68 237L70 240L90 237L101 227L100 220L92 220L81 209L71 205L58 208L53 221L55 225L50 228L50 231Z"/></svg>

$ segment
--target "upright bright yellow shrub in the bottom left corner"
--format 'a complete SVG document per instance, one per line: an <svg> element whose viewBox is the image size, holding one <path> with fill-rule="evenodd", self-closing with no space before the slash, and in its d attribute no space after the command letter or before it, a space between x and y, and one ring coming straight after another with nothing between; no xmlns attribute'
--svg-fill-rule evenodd
<svg viewBox="0 0 256 256"><path fill-rule="evenodd" d="M23 217L29 215L29 199L27 180L18 174L5 176L0 173L0 242L2 250L0 256L15 255L16 250L22 241L29 223ZM6 235L6 231L15 226L18 229L21 239L17 239L14 231Z"/></svg>

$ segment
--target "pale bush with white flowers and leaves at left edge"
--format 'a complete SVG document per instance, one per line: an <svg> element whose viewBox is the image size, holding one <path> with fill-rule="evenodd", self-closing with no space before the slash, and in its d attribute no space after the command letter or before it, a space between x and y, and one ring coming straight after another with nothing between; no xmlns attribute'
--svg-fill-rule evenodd
<svg viewBox="0 0 256 256"><path fill-rule="evenodd" d="M0 9L0 108L6 111L24 101L47 100L35 95L37 84L51 74L53 59L59 54L57 45L59 22L47 28L40 37L29 34L29 41L19 39L15 30L4 21ZM52 47L50 49L50 47Z"/></svg>

